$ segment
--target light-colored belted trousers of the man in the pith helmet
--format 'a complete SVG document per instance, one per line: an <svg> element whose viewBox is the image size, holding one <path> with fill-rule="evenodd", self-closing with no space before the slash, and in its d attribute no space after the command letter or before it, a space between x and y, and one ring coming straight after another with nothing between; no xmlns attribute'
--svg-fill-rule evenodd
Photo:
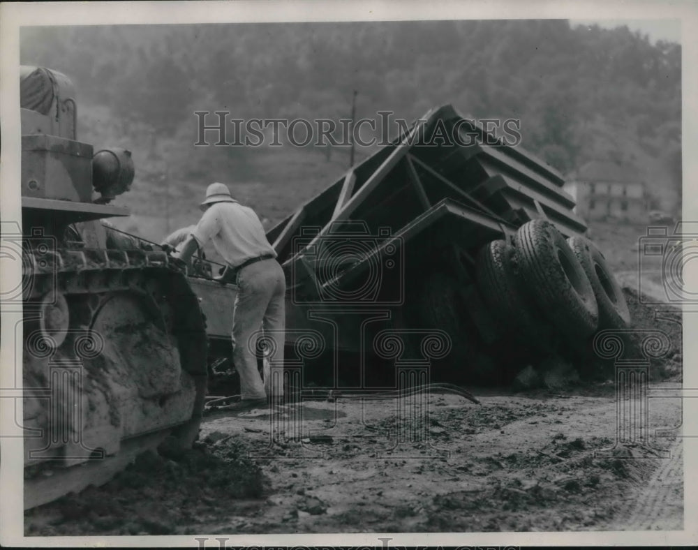
<svg viewBox="0 0 698 550"><path fill-rule="evenodd" d="M276 260L262 260L237 274L237 297L232 321L232 360L240 375L241 399L279 399L283 396L284 295L286 282ZM272 376L265 360L265 380L257 369L254 350L263 330L274 345ZM273 383L272 383L273 381Z"/></svg>

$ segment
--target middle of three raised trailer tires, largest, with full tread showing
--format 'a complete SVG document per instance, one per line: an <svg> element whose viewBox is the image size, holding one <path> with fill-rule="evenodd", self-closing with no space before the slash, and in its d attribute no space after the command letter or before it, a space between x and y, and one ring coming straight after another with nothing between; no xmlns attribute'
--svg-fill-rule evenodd
<svg viewBox="0 0 698 550"><path fill-rule="evenodd" d="M599 318L594 290L565 238L539 219L521 225L515 244L519 272L543 315L566 339L591 336Z"/></svg>

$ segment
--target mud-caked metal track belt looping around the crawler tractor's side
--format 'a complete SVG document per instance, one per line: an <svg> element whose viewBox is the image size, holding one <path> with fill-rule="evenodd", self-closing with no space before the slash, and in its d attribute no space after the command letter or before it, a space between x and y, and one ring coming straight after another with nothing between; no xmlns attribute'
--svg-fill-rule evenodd
<svg viewBox="0 0 698 550"><path fill-rule="evenodd" d="M154 431L153 436L157 436L158 441L169 437L174 441L172 445L182 448L191 447L202 420L207 380L205 358L208 345L205 316L200 309L195 292L188 283L186 271L167 255L154 251L109 250L107 252L100 249L81 249L80 251L58 249L49 255L39 254L41 261L38 261L36 256L34 251L24 251L22 282L25 322L35 322L40 311L37 307L42 305L47 292L58 292L69 299L101 296L102 298L95 302L95 306L89 305L93 315L99 311L101 304L109 299L110 293L122 291L135 292L156 308L168 307L170 324L165 326L177 337L181 368L189 373L194 382L193 414L184 423L170 424ZM85 303L89 304L89 301ZM194 312L198 312L199 315L193 314ZM75 327L82 327L86 331L91 330L91 322L86 323L84 319L79 319L71 321L77 322ZM134 441L140 438L140 434L133 435L136 436ZM146 440L150 441L152 438L144 439ZM156 443L154 441L152 445ZM136 447L131 445L128 452L135 456L149 448L154 449L152 445L149 443L140 450L138 445ZM50 502L70 491L80 491L87 482L91 482L90 480L102 484L119 469L123 469L126 461L119 451L107 457L104 468L91 466L89 480L84 479L87 475L84 474L87 472L84 468L80 468L80 472L84 475L77 475L78 470L75 468L78 466L68 468L51 466L54 475L46 478L47 481L32 479L25 482L25 509ZM107 470L110 472L109 475L106 474ZM62 473L66 475L63 476ZM59 494L60 491L53 489L52 486L60 486L64 488L64 492Z"/></svg>

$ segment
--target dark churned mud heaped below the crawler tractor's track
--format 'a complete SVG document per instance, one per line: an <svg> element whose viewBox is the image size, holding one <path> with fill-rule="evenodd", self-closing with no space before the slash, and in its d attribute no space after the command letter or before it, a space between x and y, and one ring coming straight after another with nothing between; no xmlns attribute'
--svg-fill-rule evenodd
<svg viewBox="0 0 698 550"><path fill-rule="evenodd" d="M161 452L167 447L161 447ZM262 470L247 456L242 440L218 438L176 460L153 451L101 487L27 512L27 535L174 535L231 500L259 499ZM48 512L48 514L46 514ZM38 521L33 521L36 514ZM40 519L39 519L40 518Z"/></svg>

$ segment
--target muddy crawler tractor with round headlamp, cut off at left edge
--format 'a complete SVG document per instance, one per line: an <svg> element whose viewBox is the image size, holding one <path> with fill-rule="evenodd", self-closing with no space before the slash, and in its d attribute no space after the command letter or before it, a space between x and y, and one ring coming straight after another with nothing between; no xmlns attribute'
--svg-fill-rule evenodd
<svg viewBox="0 0 698 550"><path fill-rule="evenodd" d="M22 68L21 107L27 509L106 482L165 438L191 446L207 336L184 268L157 246L114 244L102 223L128 215L111 203L131 185L131 153L78 140L57 71Z"/></svg>

